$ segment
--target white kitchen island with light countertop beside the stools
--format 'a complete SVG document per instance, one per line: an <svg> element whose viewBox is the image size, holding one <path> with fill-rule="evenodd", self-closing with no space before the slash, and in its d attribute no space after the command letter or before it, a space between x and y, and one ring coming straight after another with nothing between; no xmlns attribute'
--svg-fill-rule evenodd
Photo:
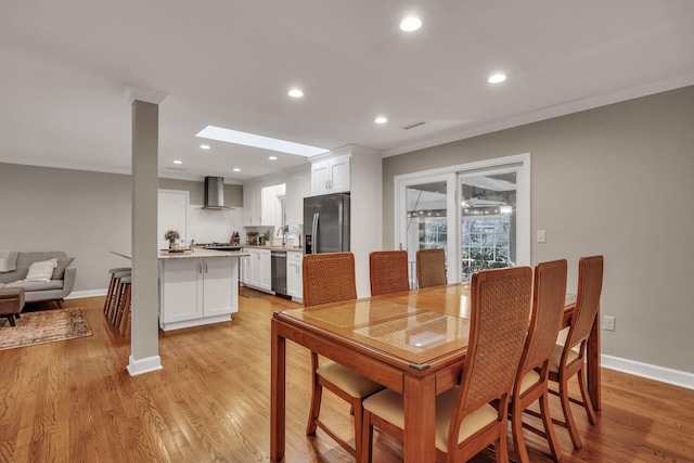
<svg viewBox="0 0 694 463"><path fill-rule="evenodd" d="M239 311L242 252L159 252L159 326L164 331L231 320Z"/></svg>

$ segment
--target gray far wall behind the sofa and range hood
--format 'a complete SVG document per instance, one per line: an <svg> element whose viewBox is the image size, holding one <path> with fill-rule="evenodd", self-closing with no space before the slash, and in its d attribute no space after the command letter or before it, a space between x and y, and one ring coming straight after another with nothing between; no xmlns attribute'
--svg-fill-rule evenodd
<svg viewBox="0 0 694 463"><path fill-rule="evenodd" d="M203 204L204 183L159 179ZM224 204L243 207L242 185L224 185ZM75 292L104 291L108 269L130 261L130 176L0 163L0 249L64 250L75 257Z"/></svg>

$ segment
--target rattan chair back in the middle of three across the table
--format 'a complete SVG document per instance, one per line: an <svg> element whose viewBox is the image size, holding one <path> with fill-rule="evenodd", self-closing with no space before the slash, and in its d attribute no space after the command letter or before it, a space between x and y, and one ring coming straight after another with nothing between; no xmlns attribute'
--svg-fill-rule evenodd
<svg viewBox="0 0 694 463"><path fill-rule="evenodd" d="M407 250L374 250L369 255L371 295L410 291Z"/></svg>

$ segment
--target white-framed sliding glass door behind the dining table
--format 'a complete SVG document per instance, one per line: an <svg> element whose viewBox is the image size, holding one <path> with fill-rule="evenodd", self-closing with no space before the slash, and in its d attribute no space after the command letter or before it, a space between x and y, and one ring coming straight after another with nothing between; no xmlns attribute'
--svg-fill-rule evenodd
<svg viewBox="0 0 694 463"><path fill-rule="evenodd" d="M529 154L398 176L395 188L396 243L413 288L417 249L446 249L449 283L530 265Z"/></svg>

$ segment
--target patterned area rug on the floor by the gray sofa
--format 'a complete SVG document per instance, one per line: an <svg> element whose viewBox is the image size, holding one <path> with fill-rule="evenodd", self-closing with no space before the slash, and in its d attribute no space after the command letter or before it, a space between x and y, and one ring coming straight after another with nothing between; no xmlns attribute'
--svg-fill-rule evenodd
<svg viewBox="0 0 694 463"><path fill-rule="evenodd" d="M16 326L0 319L0 350L91 336L87 314L80 307L25 312L21 317L15 320Z"/></svg>

